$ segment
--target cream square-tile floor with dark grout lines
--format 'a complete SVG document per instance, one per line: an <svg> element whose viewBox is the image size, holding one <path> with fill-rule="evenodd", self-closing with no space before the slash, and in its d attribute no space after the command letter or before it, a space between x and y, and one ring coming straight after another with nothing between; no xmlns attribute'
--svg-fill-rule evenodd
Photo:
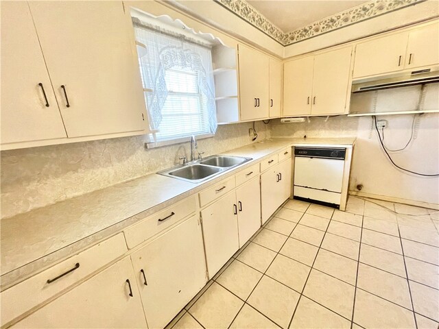
<svg viewBox="0 0 439 329"><path fill-rule="evenodd" d="M289 200L167 328L439 326L438 212Z"/></svg>

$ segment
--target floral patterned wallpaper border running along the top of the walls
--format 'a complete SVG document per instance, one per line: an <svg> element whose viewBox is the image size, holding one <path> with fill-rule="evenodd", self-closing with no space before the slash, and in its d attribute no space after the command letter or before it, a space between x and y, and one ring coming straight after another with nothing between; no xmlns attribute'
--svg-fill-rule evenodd
<svg viewBox="0 0 439 329"><path fill-rule="evenodd" d="M341 27L366 21L372 17L394 12L395 10L427 0L372 0L287 33L283 32L276 27L276 25L268 21L263 14L258 12L245 0L213 1L222 5L227 10L230 10L230 12L233 12L233 14L239 16L241 19L244 19L244 21L267 34L270 38L276 40L281 45L288 46L296 42L313 38L320 34L331 32L335 29L340 29Z"/></svg>

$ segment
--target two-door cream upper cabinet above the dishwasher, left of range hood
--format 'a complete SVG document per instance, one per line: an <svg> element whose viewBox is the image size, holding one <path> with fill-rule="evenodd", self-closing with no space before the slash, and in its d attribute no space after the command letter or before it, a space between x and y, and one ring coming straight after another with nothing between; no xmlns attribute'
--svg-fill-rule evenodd
<svg viewBox="0 0 439 329"><path fill-rule="evenodd" d="M352 47L284 65L283 117L346 112Z"/></svg>

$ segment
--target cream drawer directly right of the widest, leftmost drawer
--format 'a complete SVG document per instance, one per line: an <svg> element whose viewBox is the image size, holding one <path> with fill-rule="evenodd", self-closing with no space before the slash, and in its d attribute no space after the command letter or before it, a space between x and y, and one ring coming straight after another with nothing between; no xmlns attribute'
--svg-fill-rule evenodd
<svg viewBox="0 0 439 329"><path fill-rule="evenodd" d="M123 232L125 233L126 244L128 248L133 247L147 241L152 236L160 233L195 212L196 201L195 195L187 197L186 199L170 206L165 210L161 210L156 214L143 219L140 223L130 226Z"/></svg>

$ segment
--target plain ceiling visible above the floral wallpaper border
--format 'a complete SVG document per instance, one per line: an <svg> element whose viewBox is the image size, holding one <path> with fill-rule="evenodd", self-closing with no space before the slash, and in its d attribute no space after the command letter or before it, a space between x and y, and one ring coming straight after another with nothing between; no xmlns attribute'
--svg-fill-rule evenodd
<svg viewBox="0 0 439 329"><path fill-rule="evenodd" d="M283 32L300 27L361 5L364 0L248 0L266 19Z"/></svg>

